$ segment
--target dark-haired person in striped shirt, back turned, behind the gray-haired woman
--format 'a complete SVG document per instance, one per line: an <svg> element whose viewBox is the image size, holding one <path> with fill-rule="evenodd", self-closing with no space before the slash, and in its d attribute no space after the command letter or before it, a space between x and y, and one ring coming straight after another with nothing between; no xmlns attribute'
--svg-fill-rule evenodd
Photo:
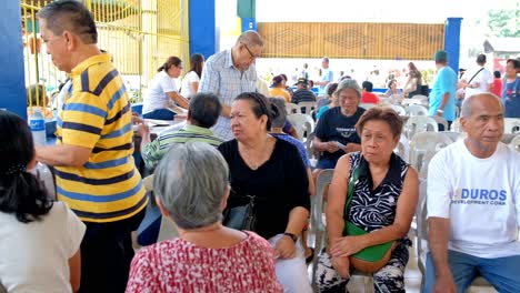
<svg viewBox="0 0 520 293"><path fill-rule="evenodd" d="M150 129L147 124L139 124L138 133L142 138L141 155L147 168L154 169L173 143L200 141L219 146L223 141L214 137L209 128L217 123L221 112L222 105L217 94L198 93L190 100L187 124L180 130L164 130L150 142Z"/></svg>

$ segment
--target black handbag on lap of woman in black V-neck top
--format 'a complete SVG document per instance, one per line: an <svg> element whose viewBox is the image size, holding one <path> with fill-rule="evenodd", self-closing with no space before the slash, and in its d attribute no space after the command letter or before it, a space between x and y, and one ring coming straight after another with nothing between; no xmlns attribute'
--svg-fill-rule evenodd
<svg viewBox="0 0 520 293"><path fill-rule="evenodd" d="M257 215L254 213L254 195L244 195L249 202L243 205L226 208L222 215L222 224L227 228L237 230L254 231L257 225Z"/></svg>

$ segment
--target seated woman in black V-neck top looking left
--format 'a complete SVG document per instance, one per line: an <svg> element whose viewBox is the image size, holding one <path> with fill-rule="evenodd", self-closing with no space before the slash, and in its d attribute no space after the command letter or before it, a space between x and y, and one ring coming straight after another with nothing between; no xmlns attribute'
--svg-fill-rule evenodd
<svg viewBox="0 0 520 293"><path fill-rule="evenodd" d="M277 252L277 276L286 292L312 292L299 234L309 216L309 181L298 149L268 133L278 109L260 93L244 92L231 104L234 139L219 150L230 169L230 208L254 196L256 226ZM248 200L248 199L247 199Z"/></svg>

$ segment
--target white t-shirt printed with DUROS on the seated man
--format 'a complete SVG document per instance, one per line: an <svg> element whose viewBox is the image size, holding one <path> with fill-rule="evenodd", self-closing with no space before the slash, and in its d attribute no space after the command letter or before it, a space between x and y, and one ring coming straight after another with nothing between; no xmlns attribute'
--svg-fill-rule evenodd
<svg viewBox="0 0 520 293"><path fill-rule="evenodd" d="M520 255L520 153L499 143L486 159L464 140L439 151L428 168L428 218L450 219L449 249L493 259Z"/></svg>

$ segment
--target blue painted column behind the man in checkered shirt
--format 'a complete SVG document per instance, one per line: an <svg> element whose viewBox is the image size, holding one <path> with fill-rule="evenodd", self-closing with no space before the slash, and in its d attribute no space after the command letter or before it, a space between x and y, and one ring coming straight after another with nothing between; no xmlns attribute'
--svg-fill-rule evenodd
<svg viewBox="0 0 520 293"><path fill-rule="evenodd" d="M219 51L220 34L216 21L216 0L189 1L190 55L201 53L204 59Z"/></svg>

